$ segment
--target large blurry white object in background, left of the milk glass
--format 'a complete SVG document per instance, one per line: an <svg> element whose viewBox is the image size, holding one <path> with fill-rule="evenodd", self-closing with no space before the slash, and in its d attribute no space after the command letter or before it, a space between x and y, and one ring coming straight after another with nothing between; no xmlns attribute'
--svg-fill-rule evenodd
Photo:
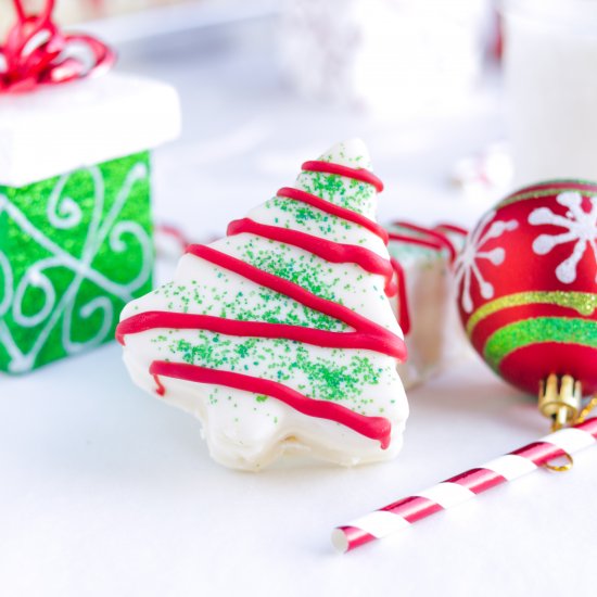
<svg viewBox="0 0 597 597"><path fill-rule="evenodd" d="M280 50L303 96L404 117L475 81L486 0L287 0Z"/></svg>

